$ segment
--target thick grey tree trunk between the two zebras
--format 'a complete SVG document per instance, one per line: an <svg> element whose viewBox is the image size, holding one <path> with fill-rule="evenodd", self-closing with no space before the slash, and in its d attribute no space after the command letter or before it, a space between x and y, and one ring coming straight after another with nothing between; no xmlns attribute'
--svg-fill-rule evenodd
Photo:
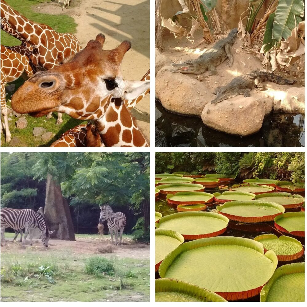
<svg viewBox="0 0 307 307"><path fill-rule="evenodd" d="M67 200L50 174L47 175L45 219L49 230L55 231L56 238L76 241Z"/></svg>

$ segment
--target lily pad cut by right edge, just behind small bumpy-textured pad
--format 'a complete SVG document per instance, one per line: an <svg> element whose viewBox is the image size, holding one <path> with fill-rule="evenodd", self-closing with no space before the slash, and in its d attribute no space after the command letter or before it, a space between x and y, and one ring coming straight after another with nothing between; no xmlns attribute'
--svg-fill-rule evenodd
<svg viewBox="0 0 307 307"><path fill-rule="evenodd" d="M305 212L287 212L274 218L279 231L305 237Z"/></svg>

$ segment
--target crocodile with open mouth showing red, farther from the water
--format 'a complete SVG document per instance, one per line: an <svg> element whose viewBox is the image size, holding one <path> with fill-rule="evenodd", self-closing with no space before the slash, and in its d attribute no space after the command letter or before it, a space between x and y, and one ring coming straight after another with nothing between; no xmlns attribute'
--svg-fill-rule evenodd
<svg viewBox="0 0 307 307"><path fill-rule="evenodd" d="M172 63L175 69L171 72L181 72L190 74L202 74L208 70L207 76L216 75L216 66L228 58L228 67L233 64L233 56L230 49L237 37L238 29L232 29L228 36L217 41L210 49L206 50L195 60L188 60L184 63Z"/></svg>

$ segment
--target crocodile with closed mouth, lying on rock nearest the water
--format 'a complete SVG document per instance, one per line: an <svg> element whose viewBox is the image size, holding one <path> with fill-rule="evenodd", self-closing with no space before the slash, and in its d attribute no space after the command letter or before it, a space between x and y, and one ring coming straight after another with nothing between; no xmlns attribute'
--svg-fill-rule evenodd
<svg viewBox="0 0 307 307"><path fill-rule="evenodd" d="M253 70L252 72L235 77L225 86L218 86L212 92L216 95L216 98L211 103L216 104L227 98L235 97L237 95L244 95L244 97L250 96L250 91L253 88L258 88L260 91L265 91L266 87L262 82L270 81L280 85L292 85L297 80L285 79L281 76L274 74L273 72L267 72L264 70Z"/></svg>

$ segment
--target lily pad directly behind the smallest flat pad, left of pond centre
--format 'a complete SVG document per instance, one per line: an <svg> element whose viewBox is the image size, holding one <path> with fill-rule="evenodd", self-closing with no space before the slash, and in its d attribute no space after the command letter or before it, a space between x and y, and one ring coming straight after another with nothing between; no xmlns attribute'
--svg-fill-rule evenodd
<svg viewBox="0 0 307 307"><path fill-rule="evenodd" d="M181 204L207 204L213 201L213 194L206 192L178 192L175 195L168 194L167 202L172 205Z"/></svg>

